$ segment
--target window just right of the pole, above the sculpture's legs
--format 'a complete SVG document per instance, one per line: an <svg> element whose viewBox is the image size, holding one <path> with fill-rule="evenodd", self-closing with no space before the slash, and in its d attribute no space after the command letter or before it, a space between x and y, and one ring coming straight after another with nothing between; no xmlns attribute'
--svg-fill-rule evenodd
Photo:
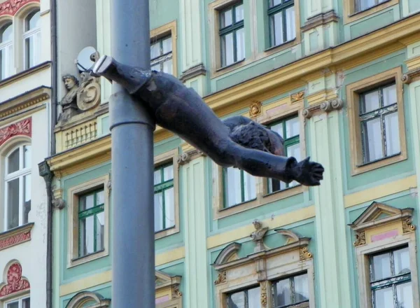
<svg viewBox="0 0 420 308"><path fill-rule="evenodd" d="M151 43L151 69L172 73L172 36Z"/></svg>

